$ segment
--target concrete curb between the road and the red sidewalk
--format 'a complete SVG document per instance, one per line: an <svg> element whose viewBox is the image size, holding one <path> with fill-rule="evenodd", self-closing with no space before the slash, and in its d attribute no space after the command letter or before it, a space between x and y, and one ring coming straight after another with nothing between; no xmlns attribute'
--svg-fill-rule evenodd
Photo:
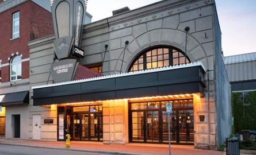
<svg viewBox="0 0 256 155"><path fill-rule="evenodd" d="M88 152L88 153L101 153L101 154L115 154L115 155L141 155L141 154L133 154L127 152L109 152L109 151L101 151L101 150L85 150L85 149L66 149L66 148L56 148L56 147L49 147L49 146L38 146L38 145L26 145L26 144L10 144L0 142L2 145L12 145L12 146L23 146L29 148L41 148L41 149L55 149L55 150L70 150L76 152Z"/></svg>

